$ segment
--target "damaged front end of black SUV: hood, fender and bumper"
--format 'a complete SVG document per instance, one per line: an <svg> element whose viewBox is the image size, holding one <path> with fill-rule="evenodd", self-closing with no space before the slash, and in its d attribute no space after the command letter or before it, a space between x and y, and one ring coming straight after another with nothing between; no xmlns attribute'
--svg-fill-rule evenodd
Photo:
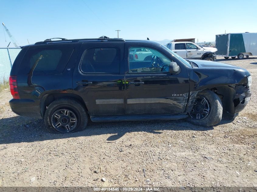
<svg viewBox="0 0 257 192"><path fill-rule="evenodd" d="M198 68L189 70L189 112L196 94L204 89L214 91L222 101L223 109L231 114L243 110L250 101L251 91L246 69L219 62L194 61Z"/></svg>

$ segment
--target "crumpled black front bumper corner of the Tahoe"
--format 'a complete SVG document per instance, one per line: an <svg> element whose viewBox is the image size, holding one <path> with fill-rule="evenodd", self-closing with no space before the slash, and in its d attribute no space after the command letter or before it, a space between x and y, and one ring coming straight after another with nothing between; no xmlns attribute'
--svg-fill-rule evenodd
<svg viewBox="0 0 257 192"><path fill-rule="evenodd" d="M235 87L235 96L234 96L234 107L235 107L235 114L242 111L247 103L251 99L251 90L244 86L236 86Z"/></svg>

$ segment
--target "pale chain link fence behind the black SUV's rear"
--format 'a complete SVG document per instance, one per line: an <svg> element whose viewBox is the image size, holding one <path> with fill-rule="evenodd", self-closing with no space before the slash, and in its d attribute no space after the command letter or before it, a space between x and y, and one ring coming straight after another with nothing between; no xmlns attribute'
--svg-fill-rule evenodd
<svg viewBox="0 0 257 192"><path fill-rule="evenodd" d="M12 64L20 51L20 48L0 48L0 83L9 80Z"/></svg>

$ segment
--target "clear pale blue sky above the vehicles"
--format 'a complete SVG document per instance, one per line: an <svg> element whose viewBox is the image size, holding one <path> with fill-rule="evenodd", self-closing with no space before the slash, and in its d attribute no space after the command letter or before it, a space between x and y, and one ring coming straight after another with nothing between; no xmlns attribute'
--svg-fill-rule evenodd
<svg viewBox="0 0 257 192"><path fill-rule="evenodd" d="M47 38L196 38L257 32L257 1L1 0L0 21L20 45ZM2 27L2 24L1 24ZM5 36L6 41L5 42ZM0 47L10 42L0 30ZM13 47L13 44L11 45Z"/></svg>

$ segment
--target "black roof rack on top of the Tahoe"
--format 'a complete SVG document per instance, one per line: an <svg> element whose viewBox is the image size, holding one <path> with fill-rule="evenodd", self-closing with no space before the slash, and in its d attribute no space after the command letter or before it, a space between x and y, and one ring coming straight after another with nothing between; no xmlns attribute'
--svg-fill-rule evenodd
<svg viewBox="0 0 257 192"><path fill-rule="evenodd" d="M52 39L61 39L61 40L54 40ZM71 43L71 42L125 42L124 39L120 38L109 38L107 36L101 36L99 38L95 39L65 39L65 38L50 38L46 39L41 42L36 42L35 45L40 45L40 44L53 44L53 43Z"/></svg>

